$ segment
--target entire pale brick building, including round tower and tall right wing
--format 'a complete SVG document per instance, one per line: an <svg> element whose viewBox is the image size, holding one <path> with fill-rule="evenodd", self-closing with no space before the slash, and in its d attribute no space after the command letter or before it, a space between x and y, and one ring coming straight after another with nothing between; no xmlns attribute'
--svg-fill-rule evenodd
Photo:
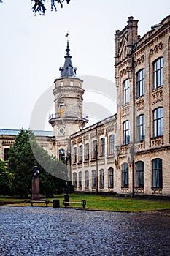
<svg viewBox="0 0 170 256"><path fill-rule="evenodd" d="M68 159L77 192L170 196L170 16L138 35L128 18L115 32L117 114L84 128L82 80L77 78L67 41L61 76L55 80L53 133L39 143L58 159ZM0 130L1 159L15 132Z"/></svg>

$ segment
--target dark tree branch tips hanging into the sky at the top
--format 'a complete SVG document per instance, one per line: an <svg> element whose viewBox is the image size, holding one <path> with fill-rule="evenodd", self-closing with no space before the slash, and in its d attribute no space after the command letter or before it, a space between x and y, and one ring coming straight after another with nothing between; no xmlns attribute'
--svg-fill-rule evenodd
<svg viewBox="0 0 170 256"><path fill-rule="evenodd" d="M0 3L2 2L3 1L0 0ZM47 10L45 4L47 0L31 0L31 2L33 2L32 10L35 14L38 12L39 15L45 15L45 12ZM70 0L51 0L51 11L57 11L57 7L55 4L60 4L61 8L63 8L63 2L69 4Z"/></svg>

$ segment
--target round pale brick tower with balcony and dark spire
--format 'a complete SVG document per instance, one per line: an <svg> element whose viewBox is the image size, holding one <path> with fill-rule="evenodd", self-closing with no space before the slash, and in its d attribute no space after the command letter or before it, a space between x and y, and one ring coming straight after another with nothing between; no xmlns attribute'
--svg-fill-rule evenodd
<svg viewBox="0 0 170 256"><path fill-rule="evenodd" d="M55 141L56 156L58 159L59 152L70 150L69 138L72 133L79 131L85 127L88 122L82 117L82 80L77 78L77 68L72 65L72 56L69 54L69 39L67 34L66 56L63 67L60 67L61 76L56 78L55 88L53 89L55 114L49 120L52 125Z"/></svg>

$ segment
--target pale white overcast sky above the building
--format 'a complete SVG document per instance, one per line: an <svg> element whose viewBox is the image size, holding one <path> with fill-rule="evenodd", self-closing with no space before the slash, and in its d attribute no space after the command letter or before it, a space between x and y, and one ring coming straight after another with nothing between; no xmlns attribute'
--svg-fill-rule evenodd
<svg viewBox="0 0 170 256"><path fill-rule="evenodd" d="M31 0L4 0L0 4L0 128L30 127L36 102L60 76L67 31L77 76L101 77L114 84L115 30L123 29L128 17L134 16L139 20L138 34L143 36L169 10L168 0L71 0L63 9L58 6L58 12L34 16ZM88 102L89 97L90 102L87 91L84 99ZM104 100L93 97L93 92L91 96L96 104L104 105L114 93L107 91Z"/></svg>

